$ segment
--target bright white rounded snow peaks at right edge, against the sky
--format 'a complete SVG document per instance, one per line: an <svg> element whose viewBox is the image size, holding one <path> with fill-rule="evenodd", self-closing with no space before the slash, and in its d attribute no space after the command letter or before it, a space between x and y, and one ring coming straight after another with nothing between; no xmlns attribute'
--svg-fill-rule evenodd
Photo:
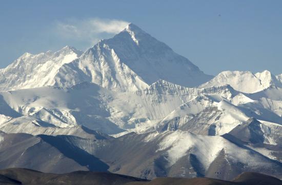
<svg viewBox="0 0 282 185"><path fill-rule="evenodd" d="M269 71L253 74L252 72L225 71L199 87L231 85L235 90L254 93L271 86L281 87L282 84Z"/></svg>

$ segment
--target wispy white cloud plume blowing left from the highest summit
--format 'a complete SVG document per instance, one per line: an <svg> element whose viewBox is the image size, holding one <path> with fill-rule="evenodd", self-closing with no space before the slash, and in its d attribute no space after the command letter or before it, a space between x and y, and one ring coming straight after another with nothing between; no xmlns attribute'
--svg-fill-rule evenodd
<svg viewBox="0 0 282 185"><path fill-rule="evenodd" d="M116 19L72 19L67 21L58 21L55 24L55 33L66 39L97 42L104 38L105 34L116 34L129 24L124 20Z"/></svg>

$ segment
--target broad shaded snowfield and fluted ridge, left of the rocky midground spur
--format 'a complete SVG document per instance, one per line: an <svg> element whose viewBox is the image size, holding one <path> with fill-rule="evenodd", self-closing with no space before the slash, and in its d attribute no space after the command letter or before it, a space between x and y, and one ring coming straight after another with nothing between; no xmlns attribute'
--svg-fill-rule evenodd
<svg viewBox="0 0 282 185"><path fill-rule="evenodd" d="M200 94L230 99L237 92L230 86L195 89L166 81L154 83L144 91L117 92L84 82L66 89L40 87L2 92L0 114L7 117L3 124L27 123L30 119L25 116L29 116L32 121L56 127L84 125L108 134L127 129L142 132Z"/></svg>

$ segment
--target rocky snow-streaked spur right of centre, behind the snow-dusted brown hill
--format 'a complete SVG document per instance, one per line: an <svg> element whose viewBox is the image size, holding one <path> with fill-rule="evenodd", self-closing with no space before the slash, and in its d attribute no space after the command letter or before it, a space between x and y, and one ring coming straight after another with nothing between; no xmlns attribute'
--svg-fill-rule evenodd
<svg viewBox="0 0 282 185"><path fill-rule="evenodd" d="M224 98L215 95L200 95L173 110L162 122L158 130L188 130L196 134L222 135L249 117Z"/></svg>

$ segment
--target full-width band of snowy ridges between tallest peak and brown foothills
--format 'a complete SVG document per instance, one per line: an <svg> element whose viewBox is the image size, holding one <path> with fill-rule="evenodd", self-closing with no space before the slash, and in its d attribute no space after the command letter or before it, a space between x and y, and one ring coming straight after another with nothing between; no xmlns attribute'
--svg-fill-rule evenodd
<svg viewBox="0 0 282 185"><path fill-rule="evenodd" d="M5 105L0 112L2 130L9 132L26 132L24 125L33 126L34 122L45 123L43 127L84 125L107 134L179 127L200 134L209 134L213 129L216 135L227 133L251 117L282 124L277 114L279 101L258 104L260 101L230 85L198 89L159 80L144 90L123 92L83 82L71 88L41 87L1 95ZM206 126L200 128L197 123ZM35 128L36 134L49 133L45 128Z"/></svg>

